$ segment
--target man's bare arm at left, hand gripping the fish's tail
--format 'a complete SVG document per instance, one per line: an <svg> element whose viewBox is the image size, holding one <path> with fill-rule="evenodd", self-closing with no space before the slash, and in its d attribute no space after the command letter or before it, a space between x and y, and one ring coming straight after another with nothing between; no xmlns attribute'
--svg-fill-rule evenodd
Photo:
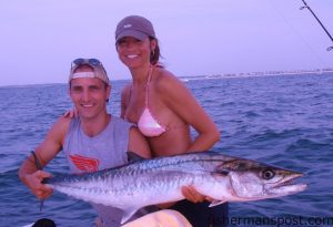
<svg viewBox="0 0 333 227"><path fill-rule="evenodd" d="M69 122L69 118L59 118L59 121L50 128L44 141L36 148L36 156L42 167L60 152ZM44 199L53 193L52 188L41 183L43 178L51 177L51 174L38 169L32 154L23 161L20 166L19 177L31 193L40 199Z"/></svg>

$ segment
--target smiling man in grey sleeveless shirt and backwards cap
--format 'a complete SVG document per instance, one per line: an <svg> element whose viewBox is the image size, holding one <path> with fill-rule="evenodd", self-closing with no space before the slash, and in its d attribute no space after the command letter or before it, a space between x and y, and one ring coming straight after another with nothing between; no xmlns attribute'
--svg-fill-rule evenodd
<svg viewBox="0 0 333 227"><path fill-rule="evenodd" d="M39 171L62 149L72 173L94 172L123 165L127 152L149 158L145 138L132 124L107 112L111 85L103 65L97 59L77 59L69 76L69 94L78 117L61 116L50 128L44 141L19 169L20 179L38 198L52 195L52 188L41 182L51 174ZM120 226L122 211L92 204L104 227Z"/></svg>

